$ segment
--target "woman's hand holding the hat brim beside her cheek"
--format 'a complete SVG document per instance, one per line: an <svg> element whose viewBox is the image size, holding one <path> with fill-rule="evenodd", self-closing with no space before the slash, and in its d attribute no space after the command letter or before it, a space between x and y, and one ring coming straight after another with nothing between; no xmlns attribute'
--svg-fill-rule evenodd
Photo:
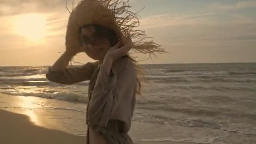
<svg viewBox="0 0 256 144"><path fill-rule="evenodd" d="M107 74L110 73L113 61L121 58L122 56L125 56L133 46L131 38L129 38L129 40L127 41L127 43L125 43L124 46L120 47L121 44L121 41L119 41L115 46L113 46L107 51L104 57L101 67L104 67L107 70Z"/></svg>

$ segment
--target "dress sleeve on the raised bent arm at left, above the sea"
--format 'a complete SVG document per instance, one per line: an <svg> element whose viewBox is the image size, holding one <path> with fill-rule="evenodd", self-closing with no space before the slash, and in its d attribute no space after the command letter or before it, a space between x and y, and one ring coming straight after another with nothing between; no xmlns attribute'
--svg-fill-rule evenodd
<svg viewBox="0 0 256 144"><path fill-rule="evenodd" d="M61 71L52 71L50 67L46 78L51 82L67 85L90 80L97 64L97 61L94 63L88 62L81 67L65 67Z"/></svg>

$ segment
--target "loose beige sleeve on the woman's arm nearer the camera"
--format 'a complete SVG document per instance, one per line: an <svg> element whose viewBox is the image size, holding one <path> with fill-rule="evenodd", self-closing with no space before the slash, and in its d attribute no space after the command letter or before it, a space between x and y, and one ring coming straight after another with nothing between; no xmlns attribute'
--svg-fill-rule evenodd
<svg viewBox="0 0 256 144"><path fill-rule="evenodd" d="M125 97L131 97L131 91L135 91L135 67L131 62L122 65L122 69L116 72L111 69L110 75L101 67L88 108L90 125L107 127L107 122L117 106L122 104Z"/></svg>

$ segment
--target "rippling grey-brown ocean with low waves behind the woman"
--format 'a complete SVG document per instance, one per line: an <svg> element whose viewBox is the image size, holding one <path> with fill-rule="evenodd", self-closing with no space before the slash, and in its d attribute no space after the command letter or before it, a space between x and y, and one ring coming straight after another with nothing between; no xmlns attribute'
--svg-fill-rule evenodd
<svg viewBox="0 0 256 144"><path fill-rule="evenodd" d="M256 63L141 67L148 76L136 96L130 131L134 141L256 143ZM88 81L49 82L48 68L0 67L0 93L35 99L27 105L2 102L0 108L43 110L61 130L86 135Z"/></svg>

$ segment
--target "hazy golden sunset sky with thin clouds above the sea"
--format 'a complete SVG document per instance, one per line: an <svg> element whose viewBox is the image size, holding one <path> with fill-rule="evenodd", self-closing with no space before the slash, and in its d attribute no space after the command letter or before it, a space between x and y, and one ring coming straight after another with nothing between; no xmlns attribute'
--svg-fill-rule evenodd
<svg viewBox="0 0 256 144"><path fill-rule="evenodd" d="M75 4L78 0L75 1ZM72 0L67 0L69 8ZM256 62L256 0L130 0L168 53L139 64ZM52 65L65 51L65 0L0 0L0 66ZM79 53L75 61L94 61Z"/></svg>

